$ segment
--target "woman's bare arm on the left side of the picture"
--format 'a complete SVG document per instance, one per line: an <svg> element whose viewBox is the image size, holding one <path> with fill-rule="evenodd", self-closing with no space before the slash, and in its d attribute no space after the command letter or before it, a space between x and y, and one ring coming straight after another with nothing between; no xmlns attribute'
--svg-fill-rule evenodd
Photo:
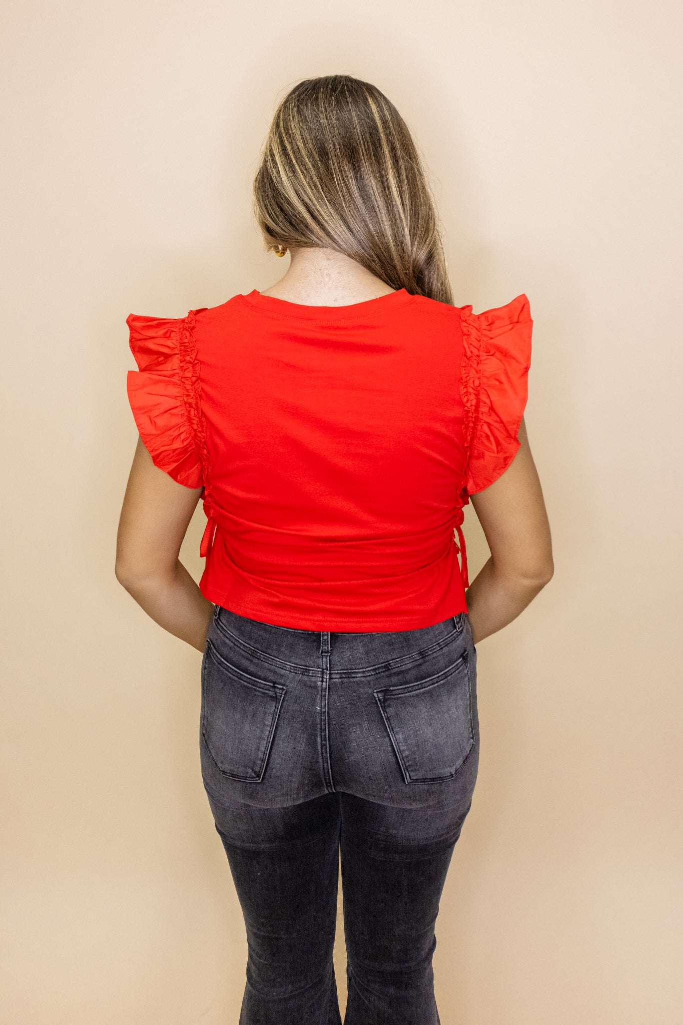
<svg viewBox="0 0 683 1025"><path fill-rule="evenodd" d="M155 466L138 438L119 520L116 576L155 622L203 652L215 607L178 561L201 494Z"/></svg>

